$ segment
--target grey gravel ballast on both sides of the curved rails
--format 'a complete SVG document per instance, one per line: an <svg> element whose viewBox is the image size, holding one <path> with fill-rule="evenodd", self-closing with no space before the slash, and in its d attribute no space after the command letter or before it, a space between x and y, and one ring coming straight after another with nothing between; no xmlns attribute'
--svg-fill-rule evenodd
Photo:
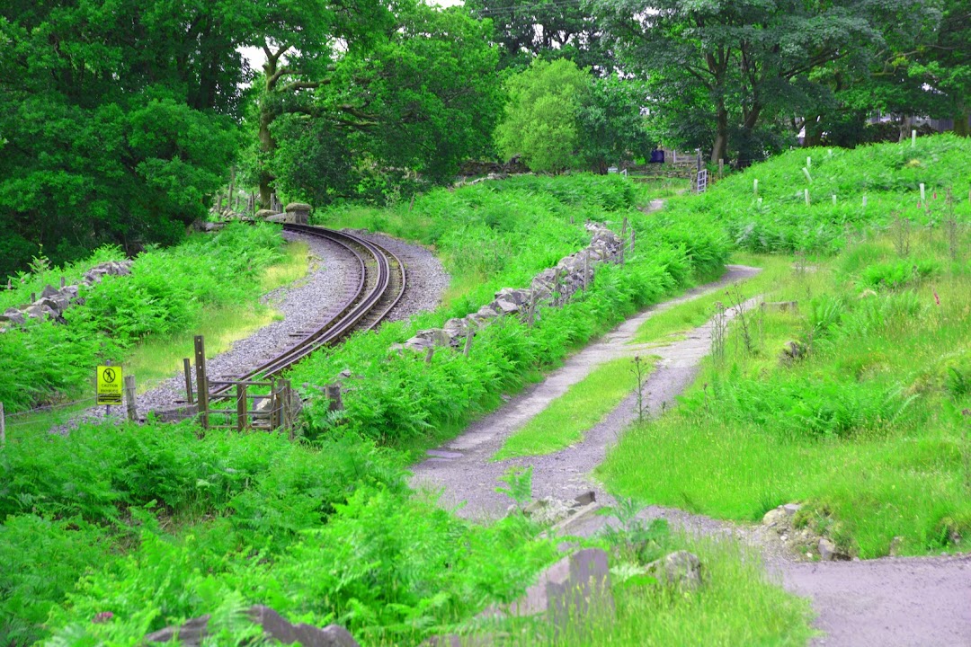
<svg viewBox="0 0 971 647"><path fill-rule="evenodd" d="M388 319L405 319L421 310L438 306L449 286L450 276L434 254L423 247L387 236L363 234L375 243L385 245L405 264L408 275L405 294L389 313ZM314 236L294 232L284 232L283 236L287 241L304 241L309 245L310 272L293 284L262 297L260 301L279 311L282 318L260 328L246 339L235 341L229 350L208 359L206 369L214 379L240 375L273 358L299 340L301 331L317 328L352 297L360 271L358 262L347 249ZM307 307L308 304L316 307ZM191 357L191 350L191 347L186 347L186 356ZM139 394L138 407L144 414L154 408L171 406L184 398L184 377L180 372ZM112 413L120 419L123 409L114 407ZM104 407L92 407L57 431L65 432L83 420L104 416Z"/></svg>

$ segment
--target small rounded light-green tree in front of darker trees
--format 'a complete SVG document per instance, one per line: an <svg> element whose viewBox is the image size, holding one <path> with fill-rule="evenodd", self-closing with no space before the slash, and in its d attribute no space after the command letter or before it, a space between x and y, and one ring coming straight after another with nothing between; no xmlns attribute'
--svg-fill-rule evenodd
<svg viewBox="0 0 971 647"><path fill-rule="evenodd" d="M496 129L506 157L521 154L532 171L558 172L577 165L577 115L591 78L572 61L534 59L507 83L509 105Z"/></svg>

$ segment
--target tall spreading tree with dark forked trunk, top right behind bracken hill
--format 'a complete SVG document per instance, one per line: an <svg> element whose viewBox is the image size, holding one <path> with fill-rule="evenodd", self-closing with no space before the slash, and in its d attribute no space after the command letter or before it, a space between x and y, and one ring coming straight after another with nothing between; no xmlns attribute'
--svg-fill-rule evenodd
<svg viewBox="0 0 971 647"><path fill-rule="evenodd" d="M919 0L599 0L598 16L630 71L694 93L713 113L712 160L757 157L765 119L811 110L811 75L883 39ZM663 109L658 106L658 109Z"/></svg>

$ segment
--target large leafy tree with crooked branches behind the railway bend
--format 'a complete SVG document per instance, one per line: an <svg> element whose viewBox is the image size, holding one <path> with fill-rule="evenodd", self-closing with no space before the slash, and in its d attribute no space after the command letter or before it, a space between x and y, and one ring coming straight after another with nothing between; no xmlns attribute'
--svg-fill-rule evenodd
<svg viewBox="0 0 971 647"><path fill-rule="evenodd" d="M418 2L400 3L394 23L336 60L301 113L277 121L275 171L291 194L381 201L405 178L446 181L491 151L503 95L487 25Z"/></svg>

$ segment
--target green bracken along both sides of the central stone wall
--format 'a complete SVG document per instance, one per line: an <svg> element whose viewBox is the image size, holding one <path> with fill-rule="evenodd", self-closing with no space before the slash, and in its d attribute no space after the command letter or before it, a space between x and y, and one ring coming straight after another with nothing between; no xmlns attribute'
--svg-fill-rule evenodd
<svg viewBox="0 0 971 647"><path fill-rule="evenodd" d="M344 380L351 387L344 398L345 411L334 414L324 399L314 399L308 407L309 433L341 429L383 443L423 446L453 433L497 404L500 394L519 389L623 317L685 286L696 275L720 269L727 247L717 232L689 237L684 226L664 225L655 215L631 209L634 195L623 178L524 177L454 193L434 192L426 196L427 203L417 200L412 210L402 206L325 215L328 222L382 225L385 231L437 244L459 286L476 276L488 278L435 313L407 324L385 325L377 335L354 336L297 367L292 372L295 382L317 385L352 372L352 378ZM533 326L512 317L496 321L476 335L469 357L443 349L426 364L416 353L388 352L392 343L419 328L477 309L500 287L528 284L535 272L582 244L586 216L615 224L626 216L638 232L638 250L628 255L625 266L599 266L584 298L564 307L540 308ZM551 236L532 238L538 231ZM566 243L571 240L574 246ZM476 247L487 248L489 242L495 254L484 258Z"/></svg>

